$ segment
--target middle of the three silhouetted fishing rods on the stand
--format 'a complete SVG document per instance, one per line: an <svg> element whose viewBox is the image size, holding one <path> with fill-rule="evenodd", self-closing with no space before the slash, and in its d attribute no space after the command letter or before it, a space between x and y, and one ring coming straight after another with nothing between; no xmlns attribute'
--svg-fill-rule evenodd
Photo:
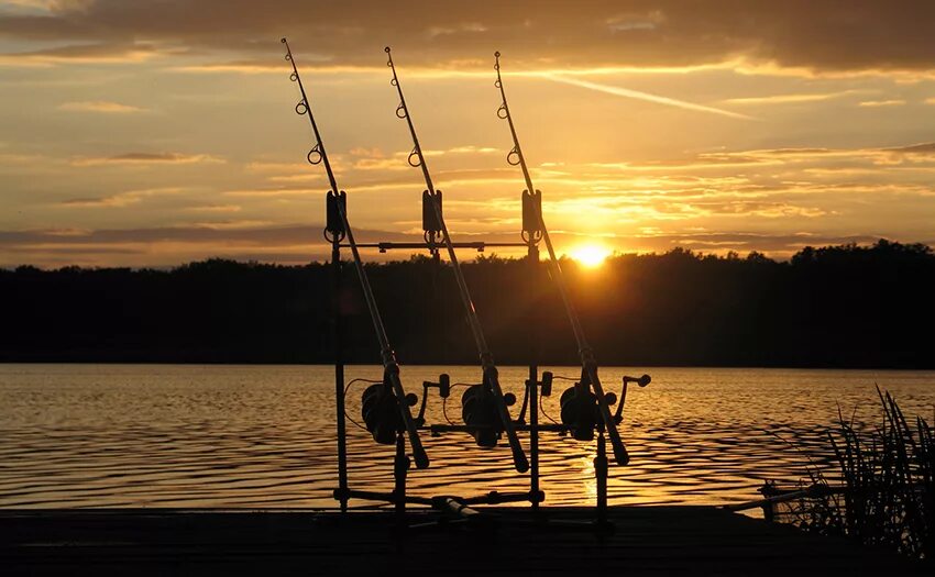
<svg viewBox="0 0 935 577"><path fill-rule="evenodd" d="M513 452L513 464L516 467L516 470L525 473L529 469L529 462L526 458L526 454L522 452L522 446L519 444L519 437L516 435L516 428L509 417L509 410L506 407L503 389L499 385L497 367L494 365L494 356L487 347L486 339L484 339L484 332L481 329L481 321L477 319L477 311L474 308L474 302L471 300L471 293L468 290L468 284L464 281L461 265L458 263L458 256L454 254L451 235L448 233L448 226L442 218L441 193L436 190L435 185L432 184L432 177L429 174L429 168L426 165L426 158L422 155L422 147L419 144L419 137L416 135L416 127L413 124L413 118L409 115L409 109L406 107L406 98L403 96L403 87L399 85L399 77L396 76L396 66L393 64L393 55L389 52L389 46L385 48L385 52L387 58L386 66L393 70L393 79L389 84L395 86L396 91L399 93L399 106L396 107L396 116L406 121L409 125L409 134L413 136L413 152L409 153L407 162L409 163L409 166L422 169L422 176L425 177L426 188L428 189L427 192L429 195L429 203L432 206L437 222L441 229L442 240L448 248L448 257L451 260L452 270L454 270L454 278L458 282L459 292L461 293L461 300L468 314L468 323L471 326L471 333L474 335L474 343L477 345L477 353L481 357L481 366L484 371L484 385L487 388L486 392L490 392L493 396L496 414L503 423L503 430L506 433L509 448Z"/></svg>

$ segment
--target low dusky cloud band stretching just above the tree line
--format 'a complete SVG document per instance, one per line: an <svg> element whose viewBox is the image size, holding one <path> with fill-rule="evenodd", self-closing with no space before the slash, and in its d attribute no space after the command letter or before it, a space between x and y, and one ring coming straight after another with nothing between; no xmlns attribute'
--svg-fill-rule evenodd
<svg viewBox="0 0 935 577"><path fill-rule="evenodd" d="M421 242L421 235L380 230L359 229L355 230L355 235L362 243ZM461 236L471 240L471 234L462 233ZM515 234L486 234L485 240L515 242ZM561 253L588 235L553 230L551 236ZM873 234L835 235L809 232L771 234L744 230L666 233L653 228L641 228L634 234L602 236L604 243L618 247L624 253L667 252L675 247L685 247L719 254L727 251L741 253L759 251L777 258L789 257L805 246L870 244L878 238L879 236ZM917 241L917 238L902 240ZM935 238L924 241L930 244L935 243ZM328 258L320 224L266 226L251 221L154 229L0 231L0 254L4 254L2 258L7 259L7 263L0 263L2 266L11 266L16 260L23 262L22 259L44 266L75 264L76 260L87 265L110 264L112 266L114 262L119 262L123 266L166 266L191 259L204 259L208 254L242 260L294 264L312 259L323 262ZM367 253L366 257L387 260L406 258L409 252L404 251L380 255L373 251ZM503 254L513 253L506 251ZM515 256L519 254L516 253Z"/></svg>

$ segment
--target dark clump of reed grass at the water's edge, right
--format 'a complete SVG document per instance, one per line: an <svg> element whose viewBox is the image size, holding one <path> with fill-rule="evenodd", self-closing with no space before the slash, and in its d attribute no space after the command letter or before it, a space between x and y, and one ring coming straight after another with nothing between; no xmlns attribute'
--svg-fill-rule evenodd
<svg viewBox="0 0 935 577"><path fill-rule="evenodd" d="M807 496L787 503L783 514L804 530L935 558L932 426L921 417L908 420L889 392L879 387L877 392L879 424L858 431L838 412L838 424L828 432L837 470L825 475L811 467Z"/></svg>

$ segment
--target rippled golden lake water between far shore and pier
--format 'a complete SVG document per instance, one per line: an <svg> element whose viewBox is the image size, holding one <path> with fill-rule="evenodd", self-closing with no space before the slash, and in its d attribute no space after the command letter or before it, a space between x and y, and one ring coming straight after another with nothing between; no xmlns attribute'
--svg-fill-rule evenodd
<svg viewBox="0 0 935 577"><path fill-rule="evenodd" d="M542 367L574 376L572 367ZM0 508L333 507L337 485L333 373L329 366L0 365ZM525 367L501 367L521 398ZM449 373L475 382L476 367L403 367L407 390ZM652 375L630 387L620 432L630 465L612 466L613 504L722 504L758 497L763 479L795 481L826 468L826 431L838 407L877 421L875 384L906 414L935 413L935 371L602 367L619 393L623 375ZM349 367L348 379L381 377ZM558 418L570 382L556 380L544 410ZM354 385L348 410L360 417ZM460 391L459 391L460 392ZM460 393L448 417L460 420ZM444 422L437 392L429 422ZM518 410L514 407L515 411ZM543 422L548 420L542 418ZM393 447L349 423L352 488L389 490ZM528 437L521 435L528 448ZM432 458L413 469L415 495L471 496L526 490L506 444L481 450L465 434L424 436ZM543 433L547 504L591 504L595 444ZM352 501L352 504L366 504Z"/></svg>

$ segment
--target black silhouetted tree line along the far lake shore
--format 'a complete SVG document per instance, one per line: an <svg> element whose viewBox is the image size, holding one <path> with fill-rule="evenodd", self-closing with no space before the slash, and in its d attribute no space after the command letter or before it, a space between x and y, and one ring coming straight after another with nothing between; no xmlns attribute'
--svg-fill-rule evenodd
<svg viewBox="0 0 935 577"><path fill-rule="evenodd" d="M935 368L935 254L881 240L759 253L617 255L562 263L604 365ZM367 264L402 363L476 362L450 268L427 257ZM501 364L575 364L544 263L464 265ZM329 363L332 302L348 362L377 363L353 267L209 259L170 270L22 266L0 270L0 360Z"/></svg>

